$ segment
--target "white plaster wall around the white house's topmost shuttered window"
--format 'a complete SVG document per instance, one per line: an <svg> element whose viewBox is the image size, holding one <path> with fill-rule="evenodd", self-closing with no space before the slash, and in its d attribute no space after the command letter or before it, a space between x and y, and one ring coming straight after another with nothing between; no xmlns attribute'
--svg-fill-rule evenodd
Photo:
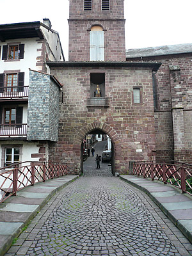
<svg viewBox="0 0 192 256"><path fill-rule="evenodd" d="M39 38L20 38L14 40L6 40L6 42L1 42L1 58L0 58L0 73L3 73L5 70L20 70L20 72L25 72L24 77L24 86L29 85L29 68L35 70L41 70L42 67L36 66L36 58L41 55L41 51L37 51L37 49L42 48L42 43L36 42ZM18 44L25 44L24 46L24 59L20 60L10 60L4 61L2 60L2 52L3 52L3 45L8 43L18 43Z"/></svg>

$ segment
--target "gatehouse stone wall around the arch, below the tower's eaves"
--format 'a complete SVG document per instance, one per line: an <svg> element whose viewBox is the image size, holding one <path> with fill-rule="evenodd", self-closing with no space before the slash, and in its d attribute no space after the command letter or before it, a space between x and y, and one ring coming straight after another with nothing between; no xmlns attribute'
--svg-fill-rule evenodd
<svg viewBox="0 0 192 256"><path fill-rule="evenodd" d="M93 129L109 134L115 147L115 170L125 173L130 160L152 159L155 149L154 105L150 68L52 68L63 86L58 143L49 156L79 172L81 143ZM109 108L87 108L90 73L104 72ZM140 86L143 103L132 104L132 88Z"/></svg>

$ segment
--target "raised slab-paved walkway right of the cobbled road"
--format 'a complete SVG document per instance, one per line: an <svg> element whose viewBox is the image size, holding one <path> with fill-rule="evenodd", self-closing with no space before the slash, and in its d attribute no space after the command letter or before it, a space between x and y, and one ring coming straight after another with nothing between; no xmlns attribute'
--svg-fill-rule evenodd
<svg viewBox="0 0 192 256"><path fill-rule="evenodd" d="M143 180L143 177L121 175L120 179L147 193L192 243L192 196L182 194L180 189L157 181L150 181L154 183L154 188L148 187L148 182Z"/></svg>

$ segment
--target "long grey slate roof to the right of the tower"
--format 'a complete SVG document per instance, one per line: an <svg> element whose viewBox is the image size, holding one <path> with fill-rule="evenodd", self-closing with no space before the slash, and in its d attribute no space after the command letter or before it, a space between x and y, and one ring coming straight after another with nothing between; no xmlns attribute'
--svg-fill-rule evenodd
<svg viewBox="0 0 192 256"><path fill-rule="evenodd" d="M128 49L126 50L126 58L141 58L189 52L192 52L192 44L164 45L159 47Z"/></svg>

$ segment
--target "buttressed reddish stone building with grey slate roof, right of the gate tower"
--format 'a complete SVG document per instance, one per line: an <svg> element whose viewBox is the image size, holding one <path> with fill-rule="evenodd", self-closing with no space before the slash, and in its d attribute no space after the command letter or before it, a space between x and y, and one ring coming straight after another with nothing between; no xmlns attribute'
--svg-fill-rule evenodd
<svg viewBox="0 0 192 256"><path fill-rule="evenodd" d="M127 61L161 61L154 72L156 160L192 163L192 44L126 52Z"/></svg>

